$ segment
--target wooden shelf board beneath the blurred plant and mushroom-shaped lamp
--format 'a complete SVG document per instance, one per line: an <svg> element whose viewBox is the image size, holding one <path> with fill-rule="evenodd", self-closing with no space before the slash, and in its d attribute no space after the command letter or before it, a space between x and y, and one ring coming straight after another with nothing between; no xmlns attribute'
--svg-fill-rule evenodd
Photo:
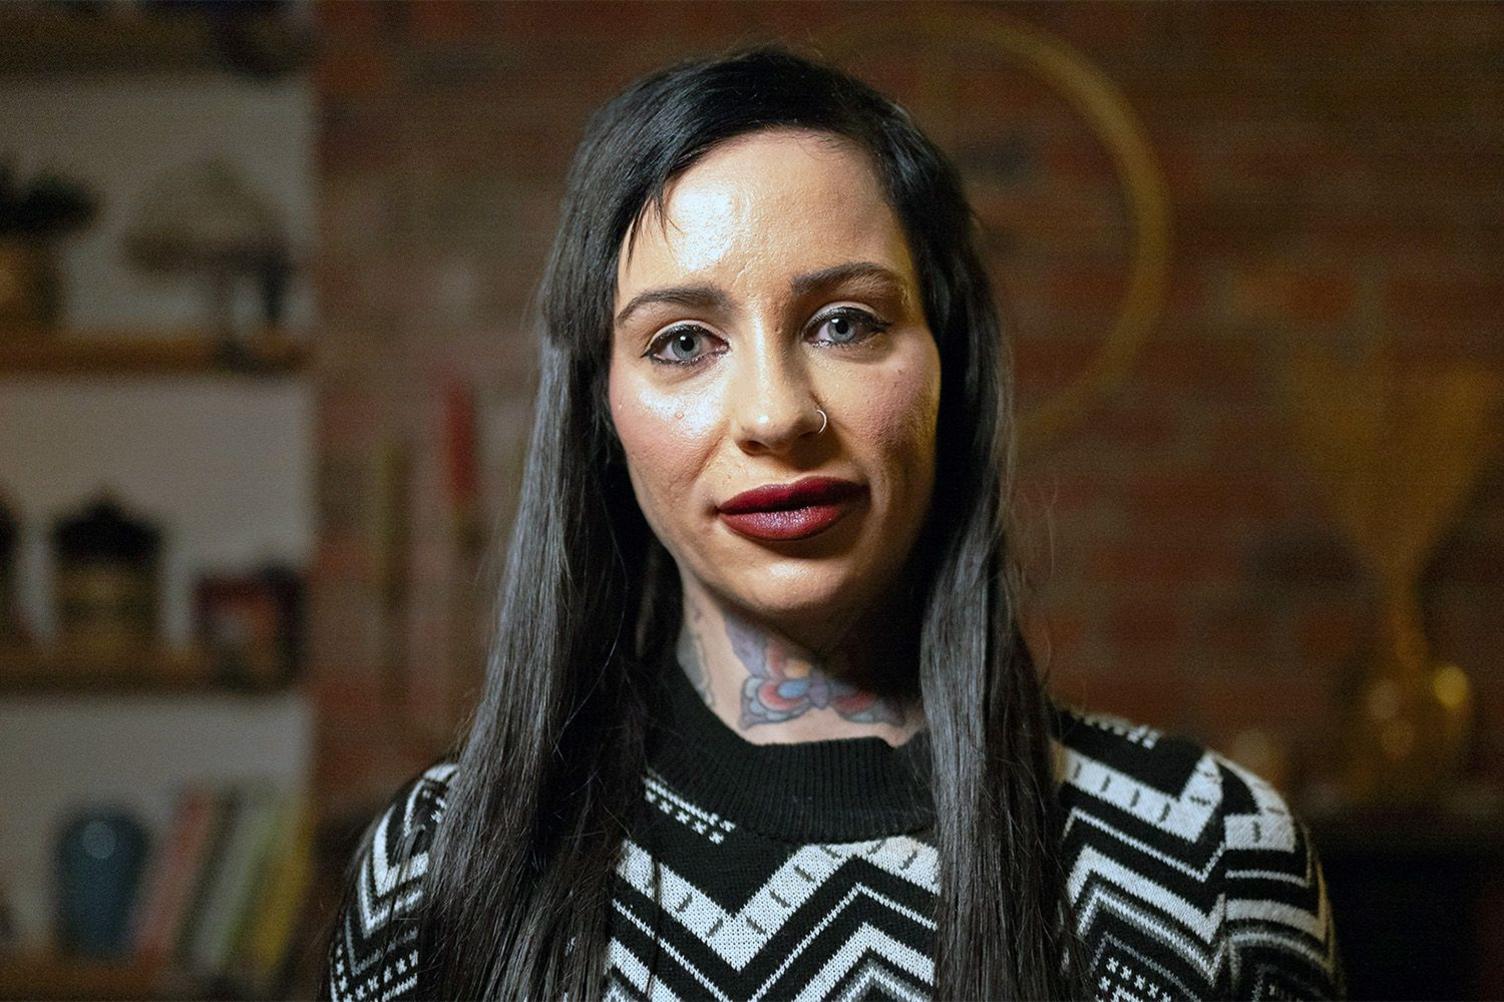
<svg viewBox="0 0 1504 1002"><path fill-rule="evenodd" d="M208 332L0 331L0 376L286 376L308 360L302 340L280 331L226 345Z"/></svg>

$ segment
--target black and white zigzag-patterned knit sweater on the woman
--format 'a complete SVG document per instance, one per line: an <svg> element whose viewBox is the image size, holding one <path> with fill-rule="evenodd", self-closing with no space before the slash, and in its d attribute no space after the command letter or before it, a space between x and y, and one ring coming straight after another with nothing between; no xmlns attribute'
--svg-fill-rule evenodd
<svg viewBox="0 0 1504 1002"><path fill-rule="evenodd" d="M925 737L752 745L666 674L669 713L617 870L609 997L928 997ZM1057 712L1056 748L1069 895L1098 997L1342 996L1321 867L1274 788L1104 715ZM373 824L331 942L337 1002L424 997L415 933L391 922L421 900L453 775L430 769ZM423 849L405 859L403 846Z"/></svg>

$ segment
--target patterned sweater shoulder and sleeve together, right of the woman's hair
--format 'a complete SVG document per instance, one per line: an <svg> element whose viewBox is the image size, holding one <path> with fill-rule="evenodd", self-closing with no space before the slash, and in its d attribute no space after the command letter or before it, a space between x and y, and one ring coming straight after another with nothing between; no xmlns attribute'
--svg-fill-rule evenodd
<svg viewBox="0 0 1504 1002"><path fill-rule="evenodd" d="M1075 709L1056 710L1056 769L1078 924L1123 952L1110 975L1191 996L1342 994L1316 847L1271 784L1188 737Z"/></svg>

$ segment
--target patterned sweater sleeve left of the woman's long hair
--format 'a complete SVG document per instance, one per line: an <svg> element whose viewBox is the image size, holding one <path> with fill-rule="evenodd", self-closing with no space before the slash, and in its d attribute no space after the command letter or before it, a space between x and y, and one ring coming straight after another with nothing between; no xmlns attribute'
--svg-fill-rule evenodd
<svg viewBox="0 0 1504 1002"><path fill-rule="evenodd" d="M322 997L418 997L423 876L453 772L453 766L429 769L405 785L365 830L329 936Z"/></svg>

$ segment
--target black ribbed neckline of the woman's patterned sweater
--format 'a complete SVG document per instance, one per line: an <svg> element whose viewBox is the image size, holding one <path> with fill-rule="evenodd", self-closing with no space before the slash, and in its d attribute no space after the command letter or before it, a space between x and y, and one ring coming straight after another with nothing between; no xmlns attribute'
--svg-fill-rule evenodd
<svg viewBox="0 0 1504 1002"><path fill-rule="evenodd" d="M678 793L788 843L863 841L934 824L929 736L754 745L716 716L674 656L659 671L648 764Z"/></svg>

